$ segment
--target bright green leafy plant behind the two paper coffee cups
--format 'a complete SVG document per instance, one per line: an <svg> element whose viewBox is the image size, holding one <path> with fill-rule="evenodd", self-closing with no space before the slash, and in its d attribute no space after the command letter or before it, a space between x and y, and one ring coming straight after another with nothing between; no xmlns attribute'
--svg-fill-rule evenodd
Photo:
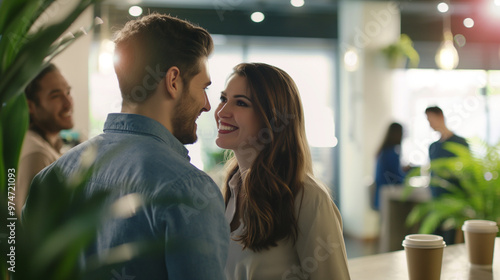
<svg viewBox="0 0 500 280"><path fill-rule="evenodd" d="M457 157L431 162L431 185L446 188L445 193L417 205L407 218L409 226L421 223L420 233L432 233L442 223L459 228L466 220L484 219L500 225L500 142L488 145L480 140L469 141L470 151L456 143L444 148ZM412 172L414 175L419 170ZM411 187L408 185L407 190ZM460 186L447 179L458 179Z"/></svg>

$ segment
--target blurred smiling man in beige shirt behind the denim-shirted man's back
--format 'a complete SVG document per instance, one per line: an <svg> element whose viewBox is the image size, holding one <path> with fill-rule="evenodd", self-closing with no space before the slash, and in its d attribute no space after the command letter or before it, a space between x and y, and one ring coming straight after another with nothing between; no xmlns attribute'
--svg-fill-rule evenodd
<svg viewBox="0 0 500 280"><path fill-rule="evenodd" d="M61 156L59 132L73 127L71 87L54 64L45 67L24 90L30 126L24 137L17 174L16 214L28 195L33 177Z"/></svg>

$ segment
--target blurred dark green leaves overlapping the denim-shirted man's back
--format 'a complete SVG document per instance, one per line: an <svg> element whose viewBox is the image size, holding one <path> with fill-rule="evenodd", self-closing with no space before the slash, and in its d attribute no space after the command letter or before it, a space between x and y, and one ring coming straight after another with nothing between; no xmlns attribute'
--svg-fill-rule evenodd
<svg viewBox="0 0 500 280"><path fill-rule="evenodd" d="M105 159L114 158L124 148L106 151ZM23 227L17 231L16 240L20 242L16 246L16 271L11 274L14 280L114 279L114 275L123 275L124 262L161 255L165 244L159 244L161 239L124 243L88 257L82 267L79 261L83 252L95 240L102 223L130 218L151 204L194 207L193 201L150 199L138 193L116 198L112 190L98 191L89 198L85 187L93 170L108 164L106 160L94 163L96 154L97 147L85 150L78 171L70 176L54 167L43 178L44 184L34 180L36 187L23 212Z"/></svg>

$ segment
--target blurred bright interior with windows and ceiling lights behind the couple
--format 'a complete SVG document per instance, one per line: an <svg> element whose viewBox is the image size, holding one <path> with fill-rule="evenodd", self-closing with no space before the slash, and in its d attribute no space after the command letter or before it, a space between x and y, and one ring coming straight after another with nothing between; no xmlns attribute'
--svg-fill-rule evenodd
<svg viewBox="0 0 500 280"><path fill-rule="evenodd" d="M70 5L63 2L58 9ZM440 2L447 4L445 12L439 11ZM500 1L106 0L74 27L95 16L104 24L55 59L72 85L74 130L82 140L101 133L106 115L120 110L114 33L151 12L187 19L213 34L212 108L240 62L273 64L294 78L315 173L331 188L345 234L352 238L379 237L380 217L370 209L368 186L391 122L405 127L402 161L415 166L428 164L428 146L439 138L424 114L430 105L443 108L458 135L491 144L500 139L500 32L494 31L500 25ZM458 60L451 57L438 66L436 54L447 28ZM418 65L405 57L394 63L383 51L397 46L401 34L413 41ZM220 180L213 110L198 119L198 136L188 147L192 162Z"/></svg>

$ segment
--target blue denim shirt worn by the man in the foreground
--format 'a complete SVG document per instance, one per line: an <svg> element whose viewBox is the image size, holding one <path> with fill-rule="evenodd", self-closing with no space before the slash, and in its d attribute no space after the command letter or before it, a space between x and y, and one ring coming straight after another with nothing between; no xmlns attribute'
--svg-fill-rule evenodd
<svg viewBox="0 0 500 280"><path fill-rule="evenodd" d="M43 184L54 167L61 168L64 175L72 174L79 167L82 153L91 146L97 148L97 153L86 186L88 197L106 190L111 193L107 199L110 205L129 194L133 195L125 204L156 202L103 220L95 242L84 253L83 267L89 268L90 260L96 257L106 260L111 248L121 249L114 257L127 259L127 253L134 251L118 246L152 241L156 253L132 258L100 276L225 279L229 226L220 190L207 174L189 163L186 148L153 119L110 114L103 134L73 148L44 169L33 181L32 189Z"/></svg>

